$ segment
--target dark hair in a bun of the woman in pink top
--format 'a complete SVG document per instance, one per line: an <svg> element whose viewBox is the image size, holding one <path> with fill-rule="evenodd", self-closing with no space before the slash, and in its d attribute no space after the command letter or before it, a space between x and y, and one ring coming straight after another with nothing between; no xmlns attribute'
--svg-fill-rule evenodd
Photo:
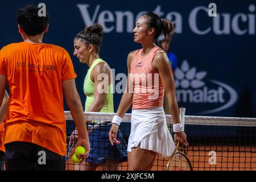
<svg viewBox="0 0 256 182"><path fill-rule="evenodd" d="M174 32L174 25L170 20L161 19L160 16L152 12L143 14L142 16L146 18L148 28L155 28L155 40L160 34L164 35L164 41L171 39Z"/></svg>

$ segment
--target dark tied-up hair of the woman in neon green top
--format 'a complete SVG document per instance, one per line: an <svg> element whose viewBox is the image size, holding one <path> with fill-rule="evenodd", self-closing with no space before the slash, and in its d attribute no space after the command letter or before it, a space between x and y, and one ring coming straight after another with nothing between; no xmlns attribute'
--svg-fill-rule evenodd
<svg viewBox="0 0 256 182"><path fill-rule="evenodd" d="M92 26L87 26L83 31L76 35L76 39L82 39L87 45L93 44L96 47L96 52L100 52L100 47L102 43L102 33L103 27L101 24L93 24Z"/></svg>

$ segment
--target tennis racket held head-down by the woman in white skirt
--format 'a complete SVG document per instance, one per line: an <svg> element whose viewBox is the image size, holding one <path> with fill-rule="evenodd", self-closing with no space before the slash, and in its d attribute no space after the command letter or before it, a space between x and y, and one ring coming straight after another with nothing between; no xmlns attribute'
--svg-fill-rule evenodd
<svg viewBox="0 0 256 182"><path fill-rule="evenodd" d="M183 131L184 131L184 127L185 127L185 108L184 107L180 107L180 122L183 126ZM181 145L181 151L183 150L184 152L179 152L179 146L180 143L178 142L174 153L172 154L172 156L169 158L168 163L167 163L167 167L166 170L167 171L193 171L191 162L188 159L188 155L187 155L187 150L183 150L183 146Z"/></svg>

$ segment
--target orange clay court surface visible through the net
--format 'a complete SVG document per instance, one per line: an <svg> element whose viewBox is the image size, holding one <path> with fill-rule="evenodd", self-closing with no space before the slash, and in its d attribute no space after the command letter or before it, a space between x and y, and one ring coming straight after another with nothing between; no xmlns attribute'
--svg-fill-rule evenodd
<svg viewBox="0 0 256 182"><path fill-rule="evenodd" d="M213 154L216 152L216 160L210 151ZM194 171L256 171L256 147L189 146L188 158ZM167 162L168 158L157 156L152 171L165 171ZM67 170L73 168L74 164L69 158ZM122 171L127 171L127 162L122 163Z"/></svg>

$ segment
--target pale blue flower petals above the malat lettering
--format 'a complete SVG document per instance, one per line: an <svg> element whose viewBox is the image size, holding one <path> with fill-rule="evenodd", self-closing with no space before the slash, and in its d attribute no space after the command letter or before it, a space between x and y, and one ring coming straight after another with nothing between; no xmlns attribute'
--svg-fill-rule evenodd
<svg viewBox="0 0 256 182"><path fill-rule="evenodd" d="M189 69L189 64L187 60L184 60L181 64L181 69L177 68L175 72L176 80L175 85L176 88L179 86L183 89L191 88L196 89L205 85L205 82L201 81L207 72L201 71L196 73L196 68L193 67Z"/></svg>

